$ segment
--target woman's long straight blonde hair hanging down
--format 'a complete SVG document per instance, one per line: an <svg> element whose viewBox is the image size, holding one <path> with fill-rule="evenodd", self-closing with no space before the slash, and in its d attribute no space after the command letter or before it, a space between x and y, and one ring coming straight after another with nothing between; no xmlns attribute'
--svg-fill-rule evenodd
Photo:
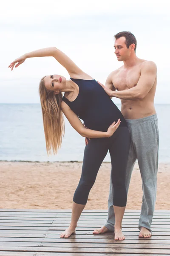
<svg viewBox="0 0 170 256"><path fill-rule="evenodd" d="M64 117L61 110L62 93L54 94L54 91L48 90L42 77L39 86L40 101L42 108L42 117L44 124L45 142L47 154L57 154L61 147L62 137L64 135Z"/></svg>

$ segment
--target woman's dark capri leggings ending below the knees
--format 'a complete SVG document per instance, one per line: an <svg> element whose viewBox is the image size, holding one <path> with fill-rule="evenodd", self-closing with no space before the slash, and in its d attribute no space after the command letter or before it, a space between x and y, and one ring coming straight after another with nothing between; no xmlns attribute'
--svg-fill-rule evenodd
<svg viewBox="0 0 170 256"><path fill-rule="evenodd" d="M82 175L74 193L76 204L86 204L99 168L108 150L111 155L111 179L113 183L113 205L125 207L127 202L126 167L130 147L127 127L119 127L110 138L91 139L85 146Z"/></svg>

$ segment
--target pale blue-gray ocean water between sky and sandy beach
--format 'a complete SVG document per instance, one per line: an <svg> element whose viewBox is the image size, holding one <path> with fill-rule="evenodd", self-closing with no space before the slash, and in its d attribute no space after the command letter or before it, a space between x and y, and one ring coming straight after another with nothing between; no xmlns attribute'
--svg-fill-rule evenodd
<svg viewBox="0 0 170 256"><path fill-rule="evenodd" d="M120 105L117 105L120 109ZM155 105L159 120L159 162L170 163L170 105ZM85 138L65 119L57 155L47 156L40 104L0 104L0 160L82 161ZM105 162L110 162L107 154Z"/></svg>

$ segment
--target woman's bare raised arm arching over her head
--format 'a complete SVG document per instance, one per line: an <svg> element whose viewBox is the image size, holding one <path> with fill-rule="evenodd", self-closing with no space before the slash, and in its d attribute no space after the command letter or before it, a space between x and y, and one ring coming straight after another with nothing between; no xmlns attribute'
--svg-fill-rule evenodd
<svg viewBox="0 0 170 256"><path fill-rule="evenodd" d="M28 52L19 58L16 58L14 61L11 62L11 64L8 66L13 70L15 64L15 67L18 67L20 64L22 64L26 58L34 58L34 57L54 57L65 69L68 71L69 75L81 75L84 72L77 67L77 65L67 56L64 52L60 51L56 47L48 47L43 48L39 50L35 50L33 52Z"/></svg>

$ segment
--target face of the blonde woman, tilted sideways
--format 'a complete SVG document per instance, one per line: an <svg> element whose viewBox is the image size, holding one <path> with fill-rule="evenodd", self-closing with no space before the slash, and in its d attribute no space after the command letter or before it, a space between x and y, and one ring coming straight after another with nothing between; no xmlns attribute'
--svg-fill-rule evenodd
<svg viewBox="0 0 170 256"><path fill-rule="evenodd" d="M60 75L45 76L44 84L46 89L60 92L66 84L66 78Z"/></svg>

